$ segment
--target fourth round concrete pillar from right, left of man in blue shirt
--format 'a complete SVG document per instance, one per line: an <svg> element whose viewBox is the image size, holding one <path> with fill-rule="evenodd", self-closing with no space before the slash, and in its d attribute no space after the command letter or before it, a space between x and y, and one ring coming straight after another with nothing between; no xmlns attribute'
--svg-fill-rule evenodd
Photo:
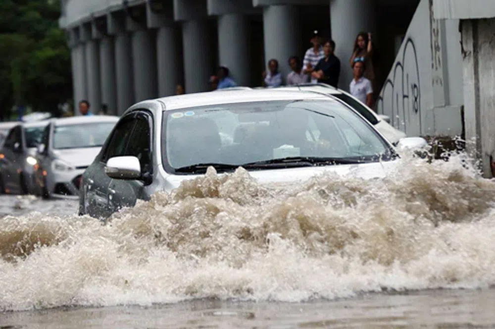
<svg viewBox="0 0 495 329"><path fill-rule="evenodd" d="M208 23L205 19L188 20L182 23L184 49L184 77L186 93L209 90L211 75L211 45L208 38Z"/></svg>

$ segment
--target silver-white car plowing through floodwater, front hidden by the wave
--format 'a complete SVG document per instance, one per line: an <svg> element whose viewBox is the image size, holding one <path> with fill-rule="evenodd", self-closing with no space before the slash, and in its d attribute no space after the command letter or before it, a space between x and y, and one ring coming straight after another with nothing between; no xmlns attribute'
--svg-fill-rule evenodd
<svg viewBox="0 0 495 329"><path fill-rule="evenodd" d="M408 146L424 139L403 139ZM396 150L361 114L320 93L232 90L140 102L84 172L79 214L105 218L157 191L242 166L261 183L324 171L383 177Z"/></svg>

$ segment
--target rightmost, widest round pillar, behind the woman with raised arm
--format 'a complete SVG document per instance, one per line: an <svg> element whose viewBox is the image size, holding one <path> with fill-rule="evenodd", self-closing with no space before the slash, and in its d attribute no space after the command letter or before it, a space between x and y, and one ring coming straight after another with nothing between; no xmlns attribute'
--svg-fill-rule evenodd
<svg viewBox="0 0 495 329"><path fill-rule="evenodd" d="M348 91L352 80L349 58L359 32L375 31L373 0L330 0L330 30L335 55L341 61L339 88Z"/></svg>

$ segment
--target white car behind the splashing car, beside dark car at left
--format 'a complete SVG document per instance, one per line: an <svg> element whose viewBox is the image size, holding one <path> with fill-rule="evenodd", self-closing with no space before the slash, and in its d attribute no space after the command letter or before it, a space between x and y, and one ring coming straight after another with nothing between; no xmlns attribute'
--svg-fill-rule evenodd
<svg viewBox="0 0 495 329"><path fill-rule="evenodd" d="M79 197L81 176L117 121L111 115L50 120L37 152L36 182L43 197Z"/></svg>

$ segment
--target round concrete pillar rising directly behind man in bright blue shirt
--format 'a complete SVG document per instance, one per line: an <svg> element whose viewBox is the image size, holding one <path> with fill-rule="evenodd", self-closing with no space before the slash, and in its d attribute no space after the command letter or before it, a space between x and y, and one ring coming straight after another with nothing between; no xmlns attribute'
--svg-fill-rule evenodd
<svg viewBox="0 0 495 329"><path fill-rule="evenodd" d="M249 85L249 33L243 14L229 13L218 17L218 51L220 65L229 68L238 85Z"/></svg>

